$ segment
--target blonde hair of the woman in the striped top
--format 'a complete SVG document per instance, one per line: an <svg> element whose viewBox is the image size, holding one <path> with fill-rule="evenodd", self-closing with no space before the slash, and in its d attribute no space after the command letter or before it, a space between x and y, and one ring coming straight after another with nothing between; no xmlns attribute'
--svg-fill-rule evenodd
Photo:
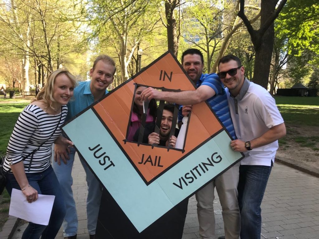
<svg viewBox="0 0 319 239"><path fill-rule="evenodd" d="M62 74L66 75L70 79L73 87L75 87L78 84L77 79L75 78L75 76L73 76L70 73L70 71L68 71L67 69L64 69L64 68L57 69L57 70L50 73L50 75L48 76L46 85L37 94L36 98L31 100L31 102L43 99L43 101L46 103L47 107L50 107L53 110L58 110L54 107L54 103L56 102L56 100L53 98L54 82L56 80L56 77L59 75L62 75Z"/></svg>

